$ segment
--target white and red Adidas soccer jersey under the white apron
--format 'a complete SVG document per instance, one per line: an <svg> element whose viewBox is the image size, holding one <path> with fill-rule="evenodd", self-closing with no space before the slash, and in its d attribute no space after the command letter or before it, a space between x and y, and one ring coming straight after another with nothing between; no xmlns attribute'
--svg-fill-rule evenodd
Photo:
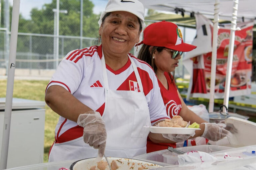
<svg viewBox="0 0 256 170"><path fill-rule="evenodd" d="M157 78L146 62L131 54L130 56L137 66L153 125L167 118ZM105 107L105 91L101 57L101 46L91 46L69 52L60 62L47 88L52 85L62 86L83 104L102 115ZM130 60L119 70L114 71L108 65L106 68L109 89L140 91ZM79 127L76 122L63 117L59 118L55 128L56 143L76 139L82 134L83 128Z"/></svg>

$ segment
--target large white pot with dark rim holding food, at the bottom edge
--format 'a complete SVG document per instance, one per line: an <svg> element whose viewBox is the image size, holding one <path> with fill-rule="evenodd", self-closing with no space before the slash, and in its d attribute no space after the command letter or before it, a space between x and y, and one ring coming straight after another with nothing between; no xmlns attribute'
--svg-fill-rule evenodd
<svg viewBox="0 0 256 170"><path fill-rule="evenodd" d="M106 162L106 159L103 157L103 161ZM145 169L159 168L161 165L157 165L154 163L136 160L136 159L128 159L128 158L117 158L117 157L108 157L108 161L111 164L112 160L115 160L118 169L117 170L137 170L140 167L145 167ZM97 168L97 163L95 158L82 159L72 163L69 169L71 170L90 170L90 167L96 166L95 170L99 170ZM105 170L109 170L108 165Z"/></svg>

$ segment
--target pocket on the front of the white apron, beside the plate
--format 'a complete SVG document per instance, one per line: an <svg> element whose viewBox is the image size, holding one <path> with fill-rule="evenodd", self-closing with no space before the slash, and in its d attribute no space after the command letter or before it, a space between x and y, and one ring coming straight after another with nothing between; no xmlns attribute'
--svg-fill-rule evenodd
<svg viewBox="0 0 256 170"><path fill-rule="evenodd" d="M144 137L148 135L145 134L146 131L143 128L149 119L148 117L149 115L145 110L135 109L131 137Z"/></svg>

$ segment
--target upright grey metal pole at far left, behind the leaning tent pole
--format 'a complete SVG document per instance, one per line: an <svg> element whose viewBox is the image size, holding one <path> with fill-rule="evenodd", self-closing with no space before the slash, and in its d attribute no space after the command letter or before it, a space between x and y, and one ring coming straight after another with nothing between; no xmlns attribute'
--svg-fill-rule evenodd
<svg viewBox="0 0 256 170"><path fill-rule="evenodd" d="M9 43L10 43L10 38L9 38L9 32L10 32L10 12L9 12L9 1L5 0L5 4L4 4L4 8L5 8L5 14L4 14L4 24L5 24L5 41L4 41L4 58L5 58L5 67L6 67L6 75L8 72L8 57L7 55L9 55Z"/></svg>

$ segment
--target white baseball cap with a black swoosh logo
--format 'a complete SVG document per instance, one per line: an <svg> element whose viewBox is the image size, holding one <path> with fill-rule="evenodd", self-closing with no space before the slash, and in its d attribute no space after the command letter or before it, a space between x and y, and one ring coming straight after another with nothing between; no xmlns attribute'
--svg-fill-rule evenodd
<svg viewBox="0 0 256 170"><path fill-rule="evenodd" d="M99 26L102 24L102 18L108 12L114 11L126 11L136 15L141 22L142 28L145 28L146 24L144 22L144 6L138 0L109 0L105 11L100 15L100 20L98 21Z"/></svg>

